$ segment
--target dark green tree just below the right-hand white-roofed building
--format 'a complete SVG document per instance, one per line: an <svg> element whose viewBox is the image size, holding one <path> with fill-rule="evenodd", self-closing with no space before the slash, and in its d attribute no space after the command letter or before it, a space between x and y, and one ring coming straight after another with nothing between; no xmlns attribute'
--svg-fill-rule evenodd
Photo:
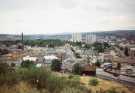
<svg viewBox="0 0 135 93"><path fill-rule="evenodd" d="M60 71L61 65L62 65L62 63L58 59L52 60L51 70L52 71Z"/></svg>

